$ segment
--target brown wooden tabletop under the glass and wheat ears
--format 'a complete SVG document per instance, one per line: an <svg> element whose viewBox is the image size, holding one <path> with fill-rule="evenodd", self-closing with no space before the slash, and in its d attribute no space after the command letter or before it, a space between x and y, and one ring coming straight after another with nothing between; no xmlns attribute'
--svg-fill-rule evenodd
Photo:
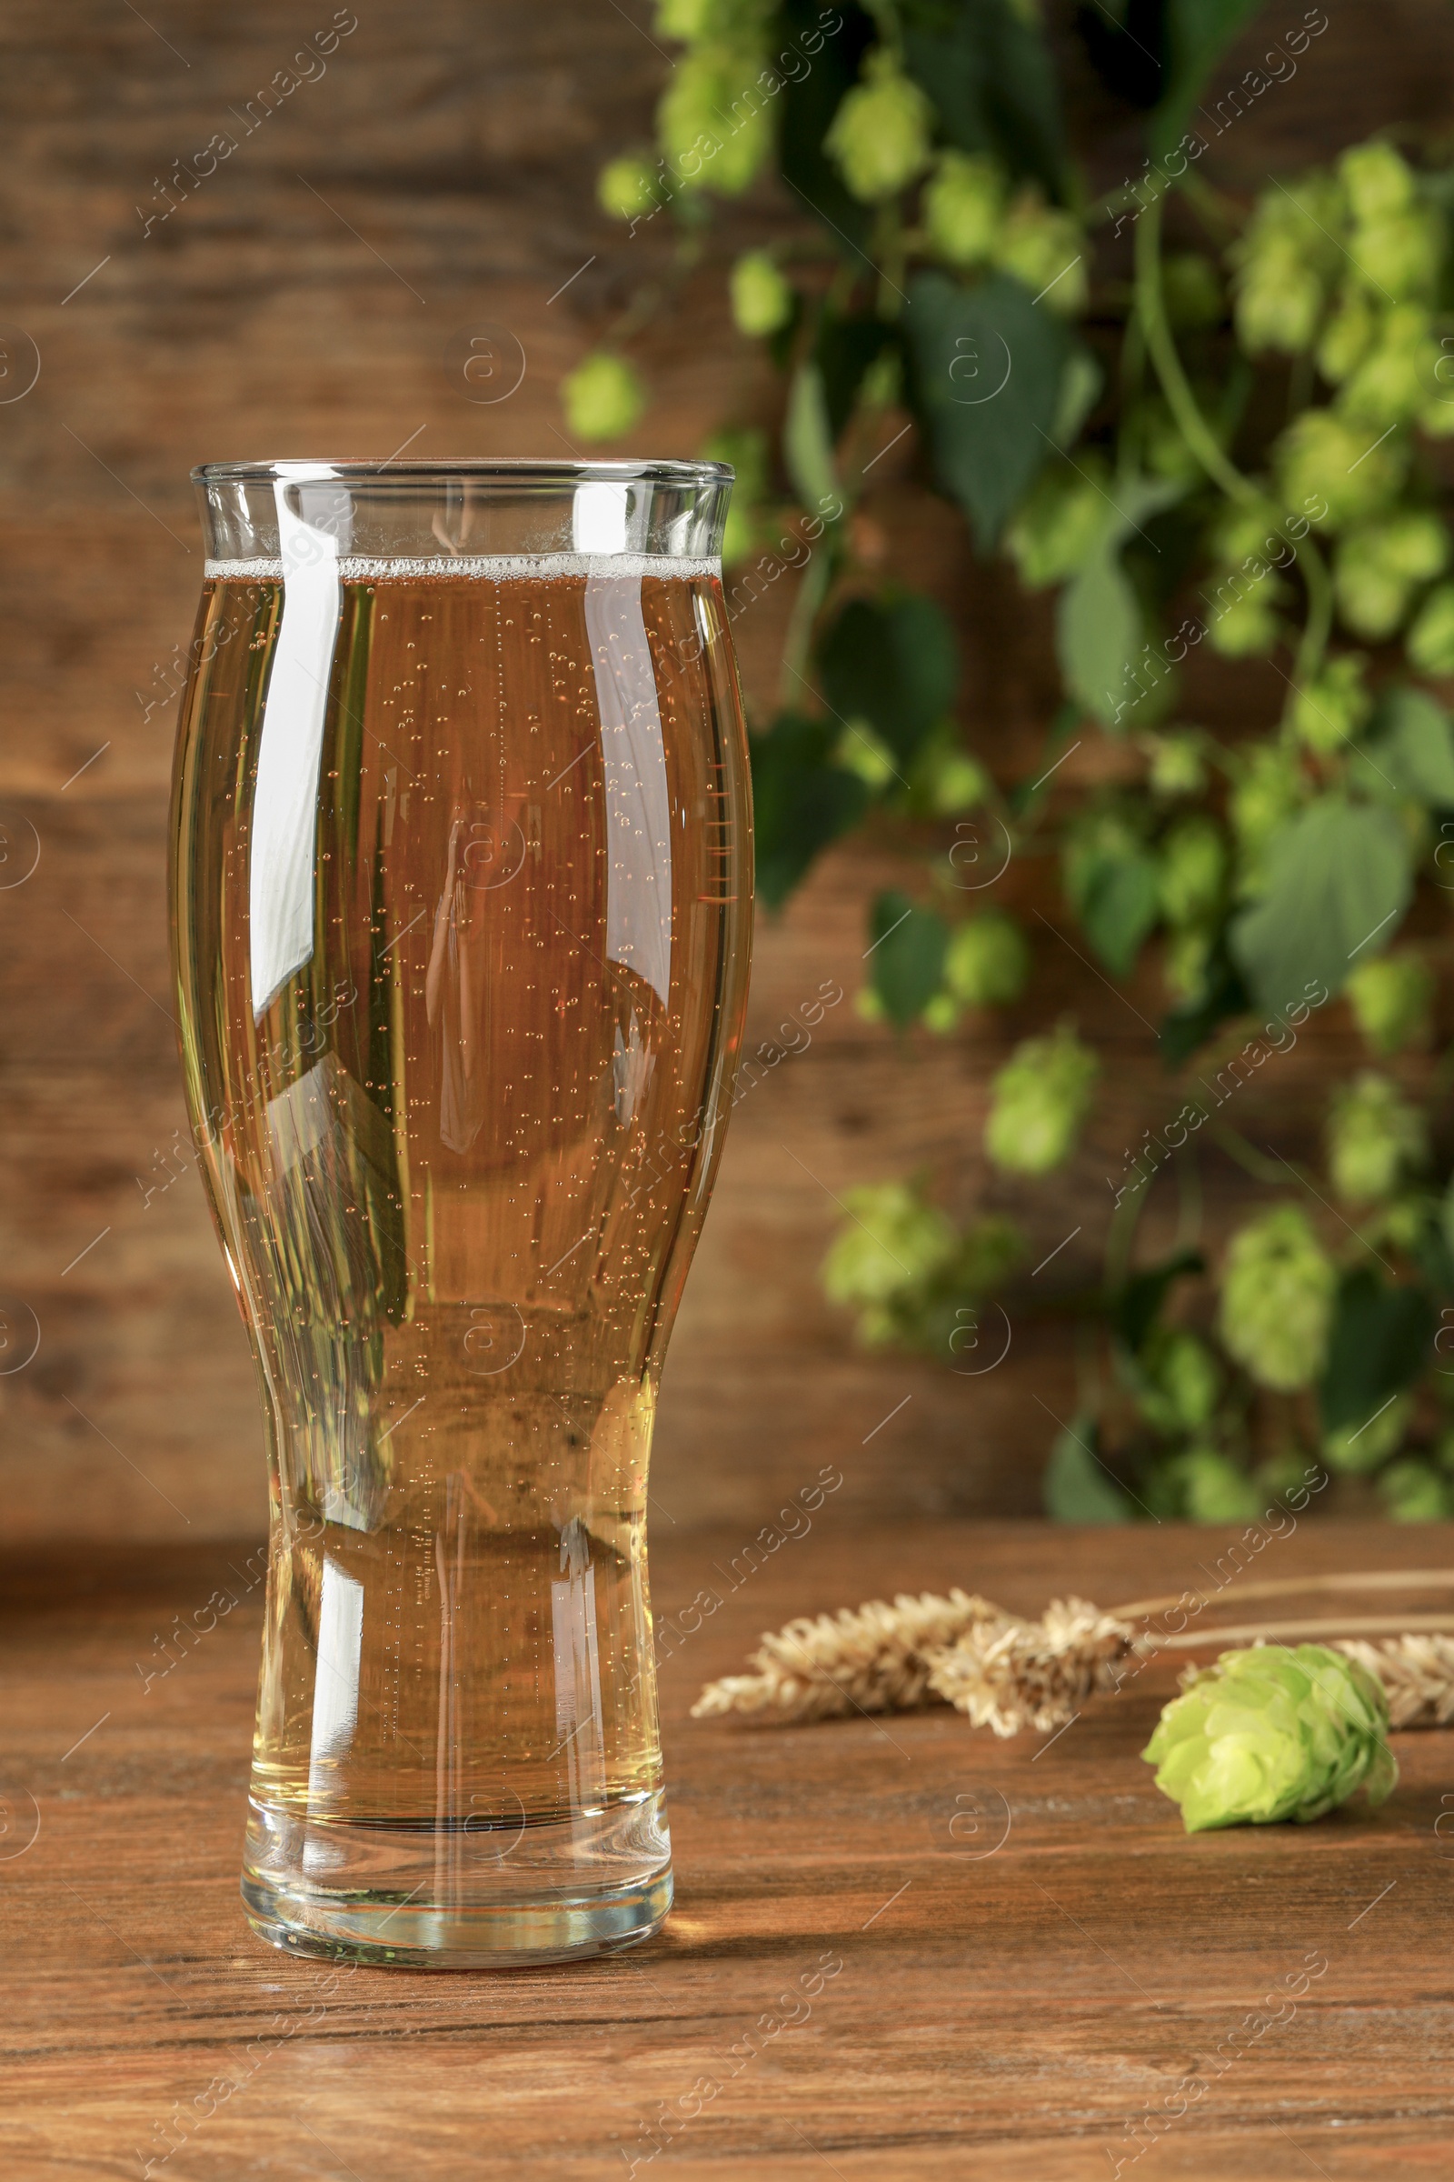
<svg viewBox="0 0 1454 2182"><path fill-rule="evenodd" d="M663 1671L665 1933L578 1968L336 1983L238 1905L259 1612L146 1691L135 1665L251 1547L9 1571L0 2175L1454 2173L1454 1733L1395 1737L1376 1818L1188 1839L1138 1759L1160 1665L1053 1741L946 1709L693 1722L700 1680L793 1612L953 1582L1022 1610L1066 1588L1112 1604L1205 1584L1227 1540L841 1536L824 1510L732 1588L741 1543L654 1543L658 1612L722 1599ZM1447 1530L1304 1521L1256 1573L1450 1558ZM663 2110L676 2138L645 2158ZM1147 2114L1155 2141L1134 2134Z"/></svg>

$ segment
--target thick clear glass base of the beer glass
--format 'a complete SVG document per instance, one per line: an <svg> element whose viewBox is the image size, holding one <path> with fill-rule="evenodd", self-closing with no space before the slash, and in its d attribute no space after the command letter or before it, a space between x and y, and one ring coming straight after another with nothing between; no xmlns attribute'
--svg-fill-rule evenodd
<svg viewBox="0 0 1454 2182"><path fill-rule="evenodd" d="M318 1820L251 1798L242 1905L294 1955L412 1970L615 1955L671 1907L663 1796L525 1822L504 1848L469 1824Z"/></svg>

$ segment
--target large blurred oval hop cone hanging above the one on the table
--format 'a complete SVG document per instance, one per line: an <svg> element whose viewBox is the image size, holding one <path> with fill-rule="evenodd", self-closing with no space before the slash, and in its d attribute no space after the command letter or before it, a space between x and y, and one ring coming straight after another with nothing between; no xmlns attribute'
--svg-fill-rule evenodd
<svg viewBox="0 0 1454 2182"><path fill-rule="evenodd" d="M1216 1331L1258 1386L1293 1394L1323 1370L1338 1276L1295 1204L1232 1237Z"/></svg>

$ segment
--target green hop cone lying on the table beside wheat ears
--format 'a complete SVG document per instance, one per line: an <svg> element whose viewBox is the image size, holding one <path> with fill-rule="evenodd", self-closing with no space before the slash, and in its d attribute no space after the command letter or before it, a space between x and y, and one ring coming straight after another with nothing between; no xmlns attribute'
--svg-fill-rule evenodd
<svg viewBox="0 0 1454 2182"><path fill-rule="evenodd" d="M1162 1709L1142 1757L1188 1833L1306 1824L1360 1787L1378 1809L1397 1783L1382 1685L1319 1643L1223 1652Z"/></svg>

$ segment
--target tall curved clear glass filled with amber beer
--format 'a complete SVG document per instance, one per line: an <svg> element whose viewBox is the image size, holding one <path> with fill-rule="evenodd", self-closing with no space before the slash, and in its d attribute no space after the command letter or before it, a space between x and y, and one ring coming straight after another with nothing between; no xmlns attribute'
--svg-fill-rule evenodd
<svg viewBox="0 0 1454 2182"><path fill-rule="evenodd" d="M750 934L711 463L218 463L172 812L266 1427L242 1896L591 1955L671 1903L647 1451Z"/></svg>

